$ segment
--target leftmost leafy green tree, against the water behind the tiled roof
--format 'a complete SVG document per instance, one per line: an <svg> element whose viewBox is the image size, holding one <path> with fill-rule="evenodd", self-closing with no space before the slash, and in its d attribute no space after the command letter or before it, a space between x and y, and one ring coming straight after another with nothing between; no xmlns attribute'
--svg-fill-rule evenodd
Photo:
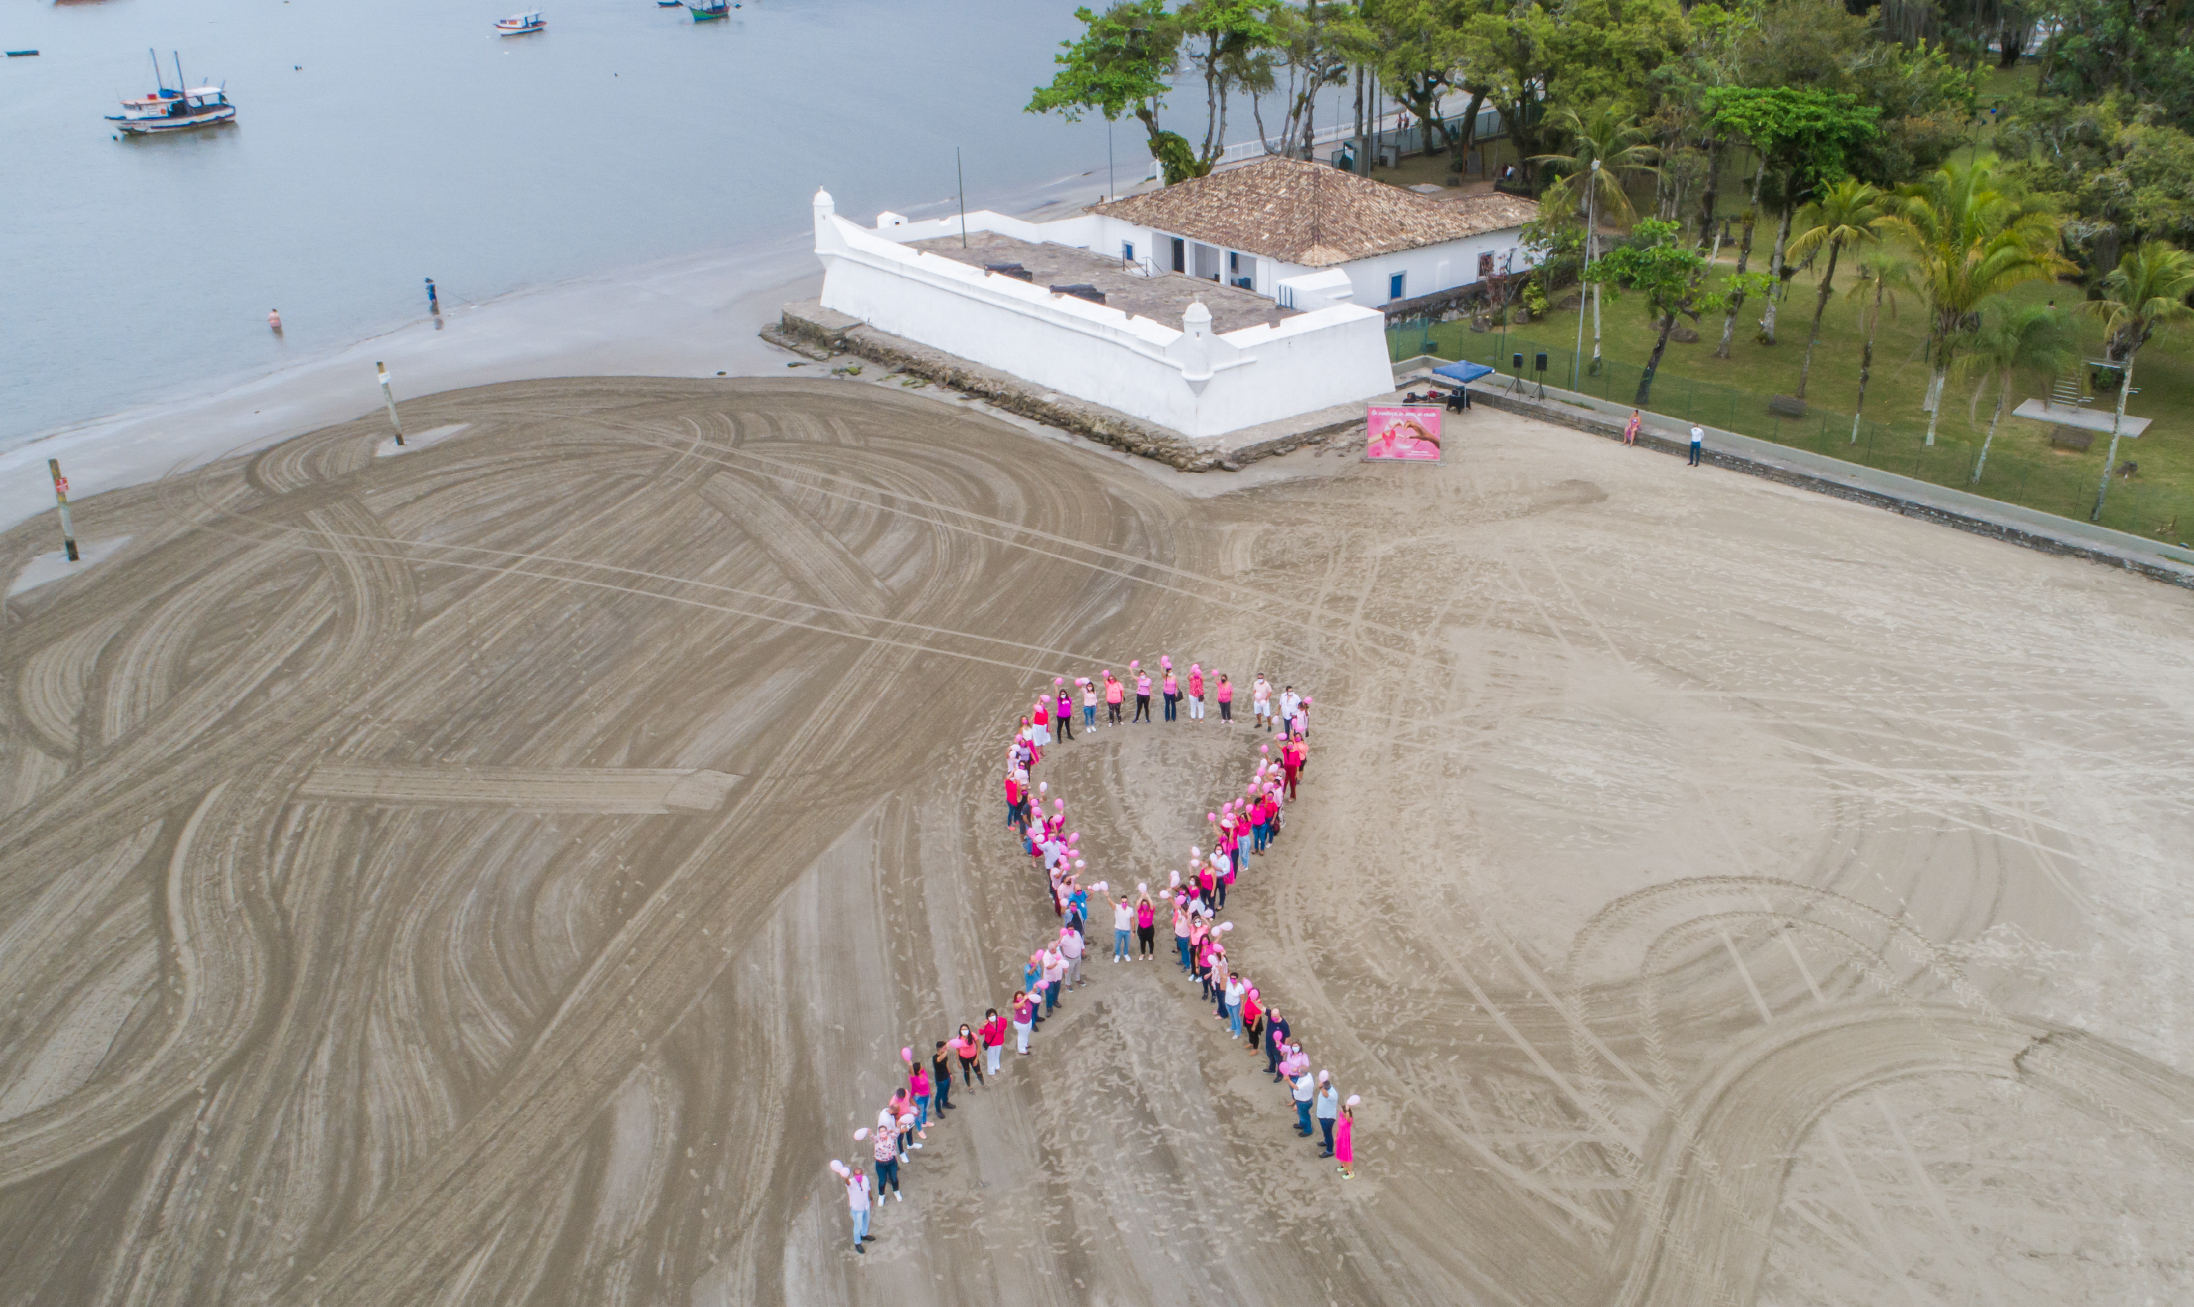
<svg viewBox="0 0 2194 1307"><path fill-rule="evenodd" d="M1121 0L1104 13L1075 9L1075 20L1082 22L1082 37L1060 42L1066 53L1051 59L1060 72L1051 86L1036 88L1025 112L1060 114L1068 123L1079 123L1090 110L1106 123L1134 114L1150 134L1150 154L1167 186L1211 171L1198 164L1196 147L1185 136L1158 127L1158 110L1180 61L1180 26L1165 0Z"/></svg>

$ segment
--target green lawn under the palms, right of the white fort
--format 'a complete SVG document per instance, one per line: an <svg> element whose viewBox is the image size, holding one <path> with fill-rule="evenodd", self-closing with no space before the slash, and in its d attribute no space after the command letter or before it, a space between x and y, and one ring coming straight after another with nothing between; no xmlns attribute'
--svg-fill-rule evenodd
<svg viewBox="0 0 2194 1307"><path fill-rule="evenodd" d="M1766 241L1773 241L1773 230L1762 232L1760 243ZM1753 268L1766 265L1760 243L1753 248ZM1724 248L1724 263L1729 261ZM1850 268L1852 259L1845 257L1836 274L1836 294L1821 320L1821 344L1814 351L1812 377L1806 388L1808 417L1775 417L1768 412L1766 399L1790 395L1797 388L1819 287L1812 272L1790 281L1790 294L1777 320L1779 344L1757 342L1760 303L1749 303L1738 314L1731 357L1727 360L1714 357L1722 333L1720 316L1709 316L1698 325L1700 340L1696 344L1672 342L1654 377L1650 408L1674 419L1700 421L2084 520L2095 496L2095 480L2102 476L2106 432L2097 434L2086 452L2069 452L2049 443L2049 425L2005 417L1994 445L1990 445L1986 476L1975 487L1970 485L1972 461L1988 430L1994 388L1990 386L1981 395L1979 408L1972 408L1975 386L1970 382L1961 386L1953 377L1944 393L1935 447L1924 445L1926 412L1920 404L1926 397L1929 366L1920 357L1926 331L1920 303L1904 303L1893 318L1889 314L1882 318L1874 342L1874 377L1867 386L1865 421L1858 441L1852 443L1861 336L1858 305L1841 294L1852 283ZM2008 298L2014 303L2056 298L2069 307L2080 303L2080 289L2027 285ZM2091 325L2086 333L2089 353L2097 355L2100 333ZM1525 355L1529 373L1534 355L1547 351L1547 384L1577 388L1617 404L1632 401L1639 364L1652 355L1654 340L1641 300L1635 296L1606 303L1599 375L1591 375L1588 366L1586 375L1573 375L1575 309L1549 314L1505 333L1499 329L1470 331L1468 322L1439 322L1428 329L1400 327L1389 338L1395 357L1415 353L1468 357L1494 364L1503 373L1509 371L1514 353ZM1586 318L1586 360L1591 349L1593 327ZM2155 425L2139 441L2122 443L2119 463L2139 463L2139 474L2133 480L2111 485L2104 524L2152 539L2194 539L2194 331L2152 340L2141 351L2135 388L2126 412L2152 417ZM2045 393L2045 379L2023 379L2014 386L2010 406ZM2108 410L2111 401L2111 395L2097 395L2091 408Z"/></svg>

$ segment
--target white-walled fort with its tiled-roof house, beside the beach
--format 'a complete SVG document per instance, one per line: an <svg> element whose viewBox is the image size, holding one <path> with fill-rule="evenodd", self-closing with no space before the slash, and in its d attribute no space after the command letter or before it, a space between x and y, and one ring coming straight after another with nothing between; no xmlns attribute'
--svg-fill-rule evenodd
<svg viewBox="0 0 2194 1307"><path fill-rule="evenodd" d="M1338 425L1391 393L1384 309L1520 272L1534 213L1264 158L1042 224L884 213L864 228L818 191L814 228L821 309L840 320L1211 443Z"/></svg>

